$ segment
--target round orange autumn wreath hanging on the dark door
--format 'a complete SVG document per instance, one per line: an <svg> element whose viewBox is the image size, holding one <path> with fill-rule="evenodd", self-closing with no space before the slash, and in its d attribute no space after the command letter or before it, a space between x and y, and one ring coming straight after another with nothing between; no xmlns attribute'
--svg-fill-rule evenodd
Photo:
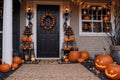
<svg viewBox="0 0 120 80"><path fill-rule="evenodd" d="M51 21L46 22L45 20L50 19ZM42 16L40 20L40 25L43 27L45 30L51 30L56 23L55 17L52 14L45 14Z"/></svg>

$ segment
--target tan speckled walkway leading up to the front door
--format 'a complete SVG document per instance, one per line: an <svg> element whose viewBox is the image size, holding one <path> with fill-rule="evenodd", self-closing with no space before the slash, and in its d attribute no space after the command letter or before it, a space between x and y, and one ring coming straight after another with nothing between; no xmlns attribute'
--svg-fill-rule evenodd
<svg viewBox="0 0 120 80"><path fill-rule="evenodd" d="M23 64L6 80L100 80L81 64Z"/></svg>

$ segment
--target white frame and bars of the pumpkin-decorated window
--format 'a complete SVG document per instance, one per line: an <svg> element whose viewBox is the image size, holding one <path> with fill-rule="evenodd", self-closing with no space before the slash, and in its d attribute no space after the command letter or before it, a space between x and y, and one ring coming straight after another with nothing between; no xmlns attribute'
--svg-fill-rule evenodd
<svg viewBox="0 0 120 80"><path fill-rule="evenodd" d="M85 4L101 6L101 5L104 5L106 3L90 3L90 2L86 2ZM113 7L112 6L111 6L110 11L111 11L110 23L111 23L111 27L112 27L112 30L113 30L114 29L114 27L113 27L114 26L114 16L113 16ZM108 36L108 34L106 34L105 32L82 32L82 22L83 21L84 20L82 20L82 5L79 5L79 35L80 36ZM91 22L101 22L101 20L90 20L90 21ZM87 22L87 20L85 22Z"/></svg>

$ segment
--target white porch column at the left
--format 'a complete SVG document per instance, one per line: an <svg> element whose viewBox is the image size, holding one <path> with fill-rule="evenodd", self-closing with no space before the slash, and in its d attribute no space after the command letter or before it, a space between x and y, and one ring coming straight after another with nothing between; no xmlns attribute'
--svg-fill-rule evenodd
<svg viewBox="0 0 120 80"><path fill-rule="evenodd" d="M4 0L2 63L12 64L12 0Z"/></svg>

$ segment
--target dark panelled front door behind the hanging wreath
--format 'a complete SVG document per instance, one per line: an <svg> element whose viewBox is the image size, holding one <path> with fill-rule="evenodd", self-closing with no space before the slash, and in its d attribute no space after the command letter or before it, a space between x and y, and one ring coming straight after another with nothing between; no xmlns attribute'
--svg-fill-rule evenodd
<svg viewBox="0 0 120 80"><path fill-rule="evenodd" d="M37 5L37 57L59 57L59 5ZM40 25L40 20L45 14L52 14L56 20L54 27L45 30ZM48 19L48 20L47 20ZM46 18L44 23L49 25L51 20Z"/></svg>

